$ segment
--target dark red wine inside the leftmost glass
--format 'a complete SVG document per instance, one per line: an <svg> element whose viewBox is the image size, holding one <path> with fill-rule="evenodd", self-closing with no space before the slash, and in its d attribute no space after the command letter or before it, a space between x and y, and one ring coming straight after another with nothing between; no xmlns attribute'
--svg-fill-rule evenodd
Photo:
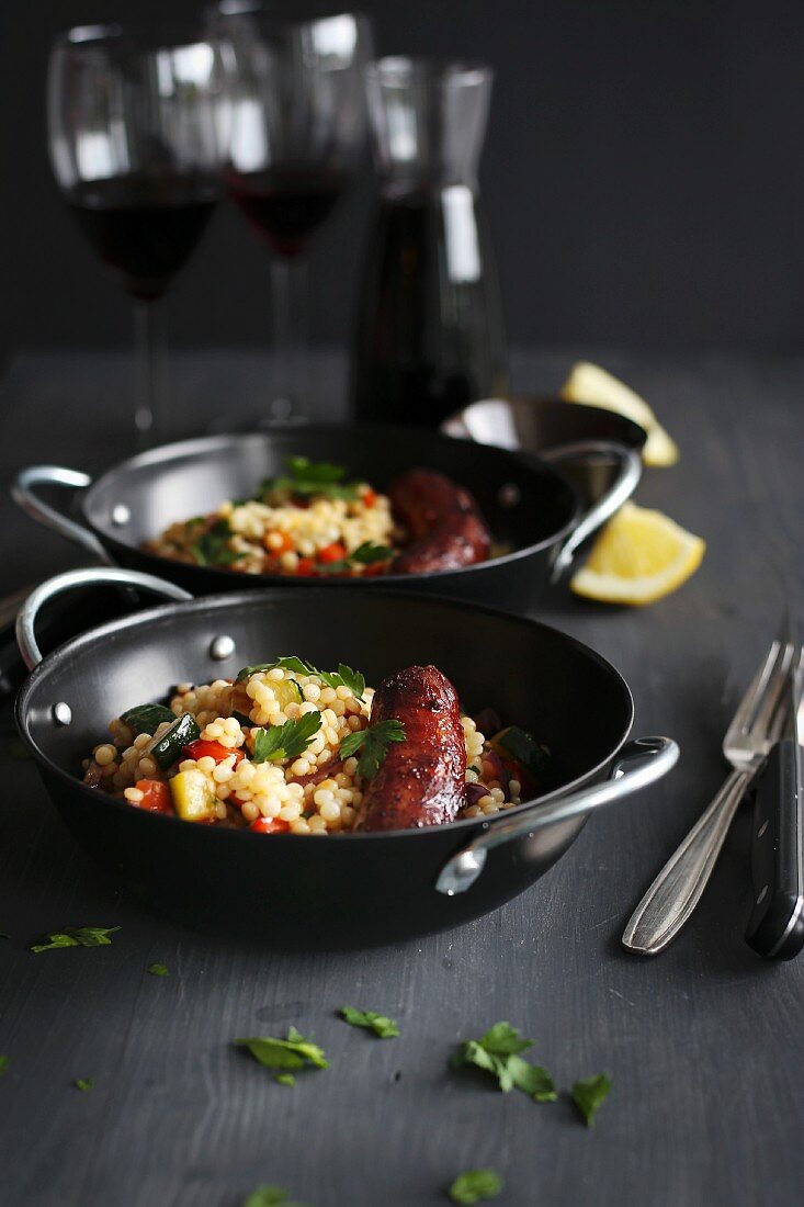
<svg viewBox="0 0 804 1207"><path fill-rule="evenodd" d="M216 176L141 173L78 181L65 200L128 292L153 302L187 263L220 196Z"/></svg>

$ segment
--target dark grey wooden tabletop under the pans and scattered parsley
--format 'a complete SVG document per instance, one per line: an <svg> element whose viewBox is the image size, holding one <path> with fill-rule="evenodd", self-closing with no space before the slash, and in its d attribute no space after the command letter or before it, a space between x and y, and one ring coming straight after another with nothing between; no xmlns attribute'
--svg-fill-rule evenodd
<svg viewBox="0 0 804 1207"><path fill-rule="evenodd" d="M484 1165L505 1177L499 1202L523 1207L803 1200L804 958L762 963L742 943L747 816L670 950L646 961L619 940L719 783L726 723L783 601L800 600L804 362L598 355L681 444L680 465L648 472L639 500L709 548L699 573L654 607L610 610L559 590L540 614L623 671L636 730L675 736L677 769L594 818L543 881L476 925L402 947L289 956L142 912L76 850L33 765L6 753L5 1207L237 1207L261 1183L313 1207L426 1207L445 1201L459 1171ZM570 360L520 355L515 375L552 389ZM337 415L342 366L320 368L316 412ZM181 356L173 371L176 432L220 410L252 413L266 393L258 356ZM118 356L18 360L0 393L4 480L34 460L118 459L129 380ZM4 588L76 562L5 500L0 514ZM63 925L122 929L104 949L28 950ZM148 975L152 961L170 975ZM401 1038L344 1026L333 1014L343 1003L398 1019ZM535 1038L561 1086L611 1071L594 1131L567 1101L535 1106L448 1071L455 1043L499 1019ZM231 1046L290 1024L332 1060L292 1090ZM95 1086L82 1094L74 1078Z"/></svg>

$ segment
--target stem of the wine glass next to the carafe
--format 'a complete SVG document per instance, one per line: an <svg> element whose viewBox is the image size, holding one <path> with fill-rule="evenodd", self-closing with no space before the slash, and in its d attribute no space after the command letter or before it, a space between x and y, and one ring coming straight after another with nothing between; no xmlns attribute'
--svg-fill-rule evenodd
<svg viewBox="0 0 804 1207"><path fill-rule="evenodd" d="M307 263L274 256L270 266L275 356L270 413L282 420L307 402Z"/></svg>

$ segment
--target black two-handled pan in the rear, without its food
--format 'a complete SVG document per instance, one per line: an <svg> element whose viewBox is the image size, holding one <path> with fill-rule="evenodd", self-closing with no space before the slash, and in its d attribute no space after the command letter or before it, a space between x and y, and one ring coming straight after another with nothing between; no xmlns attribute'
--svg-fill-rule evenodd
<svg viewBox="0 0 804 1207"><path fill-rule="evenodd" d="M12 492L30 515L100 560L161 575L193 594L266 585L310 590L315 579L238 575L185 565L141 549L144 541L174 520L212 511L225 498L251 495L262 478L284 470L290 455L336 461L380 490L413 466L439 470L468 486L495 538L513 552L456 571L366 578L359 587L435 593L512 612L532 607L548 579L570 564L582 541L633 492L641 471L633 447L610 441L571 442L536 459L429 430L309 427L168 444L122 462L94 484L72 470L33 466L18 474ZM576 489L547 463L576 462L578 457L602 457L608 465L613 459L618 467L614 480L585 513ZM39 489L48 485L85 488L76 500L75 519L42 501ZM355 589L349 579L333 579L331 585L333 590Z"/></svg>

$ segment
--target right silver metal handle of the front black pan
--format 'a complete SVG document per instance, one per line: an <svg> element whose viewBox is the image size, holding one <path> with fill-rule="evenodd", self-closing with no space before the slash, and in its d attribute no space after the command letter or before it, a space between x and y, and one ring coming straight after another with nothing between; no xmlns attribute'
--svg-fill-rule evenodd
<svg viewBox="0 0 804 1207"><path fill-rule="evenodd" d="M532 838L546 826L558 826L571 817L581 817L593 809L646 788L675 766L678 753L678 746L671 737L639 737L630 741L619 752L605 783L595 783L542 805L536 803L514 817L490 822L483 833L447 861L438 874L436 888L447 897L465 893L483 871L488 852L493 847L515 838Z"/></svg>

